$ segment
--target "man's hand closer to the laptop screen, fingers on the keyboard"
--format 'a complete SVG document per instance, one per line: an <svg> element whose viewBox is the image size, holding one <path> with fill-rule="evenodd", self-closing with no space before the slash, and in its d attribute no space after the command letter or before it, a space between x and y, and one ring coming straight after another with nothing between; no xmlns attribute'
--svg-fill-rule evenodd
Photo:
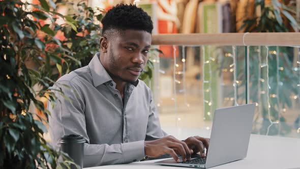
<svg viewBox="0 0 300 169"><path fill-rule="evenodd" d="M184 142L188 145L189 149L192 149L194 153L200 152L201 157L207 155L209 138L203 138L200 136L189 137ZM204 148L206 148L206 154L204 153Z"/></svg>

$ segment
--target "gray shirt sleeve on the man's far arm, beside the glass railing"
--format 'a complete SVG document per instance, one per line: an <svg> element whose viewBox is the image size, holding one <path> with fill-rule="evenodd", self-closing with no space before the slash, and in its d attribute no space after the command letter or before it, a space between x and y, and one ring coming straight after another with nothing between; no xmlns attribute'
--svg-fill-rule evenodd
<svg viewBox="0 0 300 169"><path fill-rule="evenodd" d="M159 122L158 111L155 108L152 92L149 91L150 96L150 107L149 107L149 118L147 124L147 132L145 140L154 140L167 136L168 134L162 130Z"/></svg>

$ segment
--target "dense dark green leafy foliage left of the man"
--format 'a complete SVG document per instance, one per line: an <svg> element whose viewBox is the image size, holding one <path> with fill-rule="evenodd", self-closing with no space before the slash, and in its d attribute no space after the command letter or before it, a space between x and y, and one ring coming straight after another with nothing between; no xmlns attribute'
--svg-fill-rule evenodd
<svg viewBox="0 0 300 169"><path fill-rule="evenodd" d="M37 98L53 104L56 97L49 90L53 83L88 65L99 51L104 11L79 2L74 14L64 16L57 9L74 4L39 2L0 1L0 168L61 168L73 163L47 145L43 138L47 119L30 112L29 105L48 112ZM57 19L65 23L57 24ZM140 79L151 79L152 69L149 61ZM35 91L34 86L40 90Z"/></svg>

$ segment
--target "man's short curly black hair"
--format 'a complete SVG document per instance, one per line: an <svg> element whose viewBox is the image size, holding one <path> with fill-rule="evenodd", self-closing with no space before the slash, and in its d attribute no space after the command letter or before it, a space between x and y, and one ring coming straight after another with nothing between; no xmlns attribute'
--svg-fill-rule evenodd
<svg viewBox="0 0 300 169"><path fill-rule="evenodd" d="M118 4L103 17L102 36L108 30L138 30L152 34L153 22L151 17L136 5Z"/></svg>

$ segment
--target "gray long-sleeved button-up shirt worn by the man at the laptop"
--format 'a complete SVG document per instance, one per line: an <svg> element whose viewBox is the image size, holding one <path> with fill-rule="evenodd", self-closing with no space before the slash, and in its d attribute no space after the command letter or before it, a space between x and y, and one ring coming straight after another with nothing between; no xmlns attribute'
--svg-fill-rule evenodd
<svg viewBox="0 0 300 169"><path fill-rule="evenodd" d="M84 167L129 163L142 159L144 140L166 136L151 90L141 80L128 83L124 100L97 53L88 66L59 78L54 105L49 103L49 131L54 148L67 134L86 139ZM69 86L69 87L68 87Z"/></svg>

